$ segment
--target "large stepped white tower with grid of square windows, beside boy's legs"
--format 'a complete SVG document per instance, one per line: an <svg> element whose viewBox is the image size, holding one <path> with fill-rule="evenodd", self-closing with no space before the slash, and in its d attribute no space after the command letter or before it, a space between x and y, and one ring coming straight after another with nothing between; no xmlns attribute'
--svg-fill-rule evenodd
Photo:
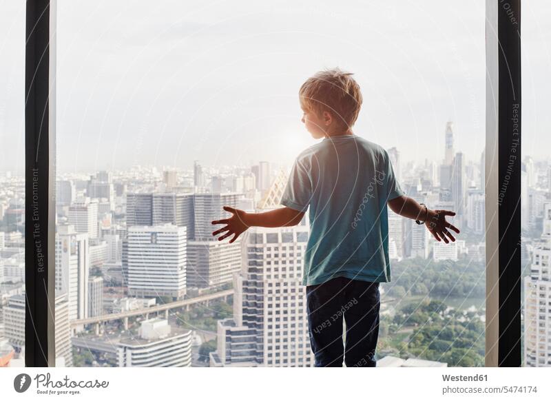
<svg viewBox="0 0 551 401"><path fill-rule="evenodd" d="M234 276L233 318L218 321L211 366L307 367L313 364L302 263L309 227L253 227Z"/></svg>

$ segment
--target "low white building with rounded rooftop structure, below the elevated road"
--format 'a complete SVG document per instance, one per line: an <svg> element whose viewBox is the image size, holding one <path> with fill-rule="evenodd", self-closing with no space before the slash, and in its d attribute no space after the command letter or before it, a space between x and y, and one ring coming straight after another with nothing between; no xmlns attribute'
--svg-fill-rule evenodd
<svg viewBox="0 0 551 401"><path fill-rule="evenodd" d="M118 340L118 367L190 367L191 330L173 328L166 319L141 322L139 337Z"/></svg>

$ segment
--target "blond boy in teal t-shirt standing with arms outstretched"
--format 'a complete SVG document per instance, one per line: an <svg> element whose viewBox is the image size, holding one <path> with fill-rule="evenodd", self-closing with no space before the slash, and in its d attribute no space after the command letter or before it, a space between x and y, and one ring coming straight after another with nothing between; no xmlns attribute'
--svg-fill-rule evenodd
<svg viewBox="0 0 551 401"><path fill-rule="evenodd" d="M391 280L387 205L406 218L424 221L436 240L455 241L447 210L432 210L404 194L386 150L352 132L362 94L352 74L318 72L300 88L302 123L323 138L295 160L281 204L263 213L224 207L230 218L213 235L233 243L251 226L297 225L308 207L310 236L303 285L316 367L375 367L380 282ZM449 240L448 240L449 238ZM346 323L346 344L342 322Z"/></svg>

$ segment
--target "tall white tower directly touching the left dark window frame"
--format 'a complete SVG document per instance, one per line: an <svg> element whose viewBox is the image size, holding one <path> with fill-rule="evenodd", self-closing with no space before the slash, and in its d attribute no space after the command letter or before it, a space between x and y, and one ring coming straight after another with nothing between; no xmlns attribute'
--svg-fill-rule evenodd
<svg viewBox="0 0 551 401"><path fill-rule="evenodd" d="M59 225L56 234L56 294L67 294L70 320L87 317L89 275L87 234L75 232L72 225Z"/></svg>

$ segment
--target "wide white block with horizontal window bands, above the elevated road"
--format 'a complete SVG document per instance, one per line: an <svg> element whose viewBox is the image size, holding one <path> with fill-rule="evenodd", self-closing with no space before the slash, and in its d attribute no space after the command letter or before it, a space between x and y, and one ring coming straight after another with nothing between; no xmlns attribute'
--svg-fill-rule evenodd
<svg viewBox="0 0 551 401"><path fill-rule="evenodd" d="M128 228L128 291L133 296L186 293L186 227L165 224Z"/></svg>

